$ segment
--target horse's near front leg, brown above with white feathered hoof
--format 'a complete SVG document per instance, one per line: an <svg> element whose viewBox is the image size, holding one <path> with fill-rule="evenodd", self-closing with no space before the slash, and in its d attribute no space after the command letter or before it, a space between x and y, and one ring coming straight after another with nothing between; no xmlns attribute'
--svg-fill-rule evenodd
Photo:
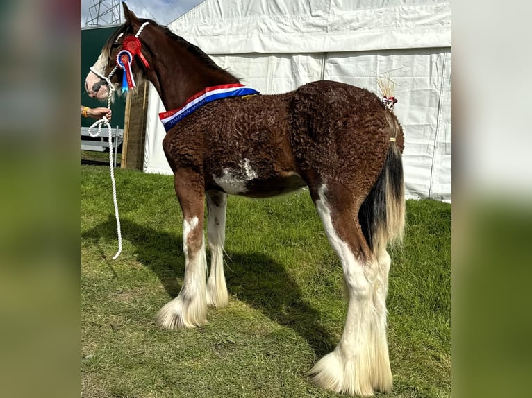
<svg viewBox="0 0 532 398"><path fill-rule="evenodd" d="M203 180L199 175L176 173L175 187L183 211L185 275L177 297L156 316L156 322L169 329L201 326L207 322Z"/></svg>

